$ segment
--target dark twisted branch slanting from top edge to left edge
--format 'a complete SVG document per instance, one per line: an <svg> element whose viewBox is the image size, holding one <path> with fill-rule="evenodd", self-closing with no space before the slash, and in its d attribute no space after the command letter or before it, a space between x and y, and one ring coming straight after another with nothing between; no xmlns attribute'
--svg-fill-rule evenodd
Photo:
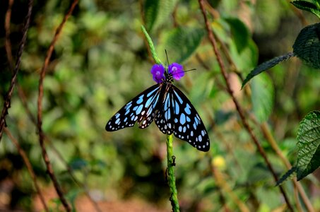
<svg viewBox="0 0 320 212"><path fill-rule="evenodd" d="M31 13L32 13L32 4L33 4L33 0L29 0L29 2L28 2L28 13L27 13L27 16L25 16L25 25L23 26L23 37L21 39L21 42L20 42L20 45L19 45L19 49L18 49L16 66L13 69L13 76L11 78L10 87L8 88L8 91L6 93L6 99L4 100L4 107L2 109L2 113L1 113L1 117L0 117L0 141L1 141L1 137L2 137L3 131L4 131L4 126L6 125L6 115L8 114L8 109L11 107L11 97L12 97L12 94L13 94L14 87L16 85L18 71L20 69L21 57L22 57L23 49L25 47L25 40L27 39L28 28L29 28L29 25L30 25L30 18L31 18Z"/></svg>

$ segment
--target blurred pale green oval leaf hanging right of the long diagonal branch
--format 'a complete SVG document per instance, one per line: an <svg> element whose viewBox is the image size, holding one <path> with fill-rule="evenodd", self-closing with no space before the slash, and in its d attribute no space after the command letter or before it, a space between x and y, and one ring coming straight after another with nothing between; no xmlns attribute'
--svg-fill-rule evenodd
<svg viewBox="0 0 320 212"><path fill-rule="evenodd" d="M251 88L251 100L256 119L259 122L266 122L273 109L273 83L268 75L263 74L254 78Z"/></svg>

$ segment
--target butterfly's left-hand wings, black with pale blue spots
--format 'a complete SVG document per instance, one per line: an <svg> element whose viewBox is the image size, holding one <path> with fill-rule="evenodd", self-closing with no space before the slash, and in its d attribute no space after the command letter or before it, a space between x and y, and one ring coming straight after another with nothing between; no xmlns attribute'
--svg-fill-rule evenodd
<svg viewBox="0 0 320 212"><path fill-rule="evenodd" d="M136 122L139 123L140 128L149 126L155 117L155 107L157 107L159 102L161 86L161 83L151 86L126 103L107 122L105 129L107 131L116 131L124 127L134 126Z"/></svg>

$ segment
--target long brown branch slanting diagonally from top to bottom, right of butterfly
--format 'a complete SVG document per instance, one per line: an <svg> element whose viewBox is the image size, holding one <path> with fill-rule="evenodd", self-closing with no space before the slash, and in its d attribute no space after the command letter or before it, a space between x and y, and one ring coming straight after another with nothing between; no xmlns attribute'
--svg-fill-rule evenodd
<svg viewBox="0 0 320 212"><path fill-rule="evenodd" d="M270 170L271 174L273 175L273 178L274 178L275 182L277 182L278 181L278 176L275 174L275 170L273 170L273 167L272 167L270 161L268 160L266 152L263 150L262 146L260 145L258 139L256 138L256 135L254 134L254 132L251 129L251 126L249 126L249 123L247 122L247 119L244 116L244 112L242 110L242 107L240 107L239 102L237 101L237 99L235 98L234 93L231 90L230 81L229 81L229 78L227 76L227 72L225 71L225 66L223 64L223 60L222 60L222 58L220 56L220 53L218 51L218 47L217 47L216 42L215 42L215 37L213 36L209 20L208 20L208 18L206 16L206 11L205 11L205 8L204 8L204 2L203 2L203 0L198 0L198 2L199 2L201 11L203 13L203 18L204 18L204 21L205 21L205 24L206 24L206 30L207 30L207 33L208 33L208 39L211 42L211 45L213 47L213 52L215 52L215 56L217 57L217 61L218 61L218 64L220 66L221 74L223 75L223 78L224 78L226 86L227 86L227 93L229 93L230 97L232 98L232 101L235 103L235 107L237 109L237 112L239 114L239 117L240 117L240 119L242 121L242 124L243 124L244 128L249 133L252 141L254 141L254 144L256 145L256 148L258 149L259 153L263 157L263 160L265 161L268 169ZM285 202L286 202L286 204L288 206L288 209L290 211L293 211L293 208L292 208L292 206L290 204L288 196L287 196L287 194L285 194L285 190L283 189L283 187L279 187L279 189L280 189L280 192L283 194L283 198L285 199Z"/></svg>

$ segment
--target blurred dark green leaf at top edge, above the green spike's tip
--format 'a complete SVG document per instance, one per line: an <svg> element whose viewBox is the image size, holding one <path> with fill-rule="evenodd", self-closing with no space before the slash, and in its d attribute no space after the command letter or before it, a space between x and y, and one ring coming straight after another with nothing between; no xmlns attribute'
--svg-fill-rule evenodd
<svg viewBox="0 0 320 212"><path fill-rule="evenodd" d="M144 4L144 18L148 31L152 30L158 17L159 0L146 0Z"/></svg>

